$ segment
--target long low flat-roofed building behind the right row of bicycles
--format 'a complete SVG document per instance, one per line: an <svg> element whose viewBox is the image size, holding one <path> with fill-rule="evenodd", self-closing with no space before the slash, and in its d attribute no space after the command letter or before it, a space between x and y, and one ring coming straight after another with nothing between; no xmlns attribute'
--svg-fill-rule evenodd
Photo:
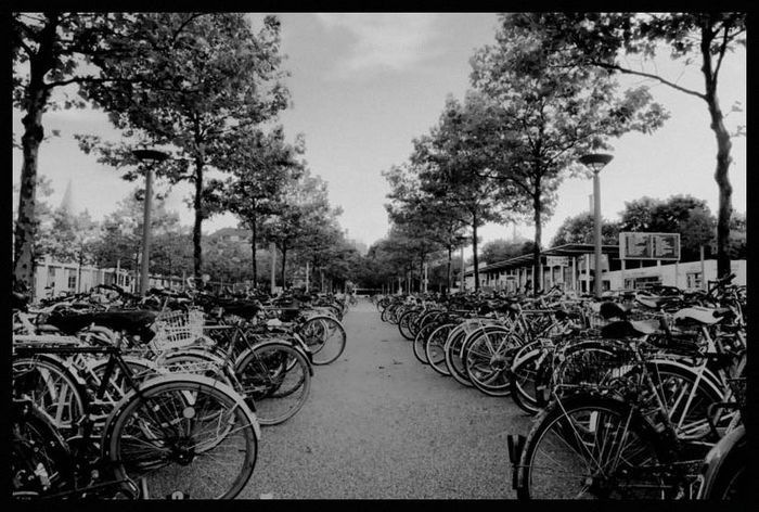
<svg viewBox="0 0 759 512"><path fill-rule="evenodd" d="M542 251L542 268L539 282L541 290L559 284L564 290L578 293L592 293L595 269L593 244L566 244ZM679 289L706 289L708 281L717 280L717 260L673 263L661 261L622 263L618 245L602 246L602 290L633 290L662 284ZM746 284L746 260L733 260L732 271L735 283ZM466 290L474 290L474 268L464 272ZM706 281L705 281L706 278ZM479 268L480 289L524 292L532 281L532 254L483 265Z"/></svg>

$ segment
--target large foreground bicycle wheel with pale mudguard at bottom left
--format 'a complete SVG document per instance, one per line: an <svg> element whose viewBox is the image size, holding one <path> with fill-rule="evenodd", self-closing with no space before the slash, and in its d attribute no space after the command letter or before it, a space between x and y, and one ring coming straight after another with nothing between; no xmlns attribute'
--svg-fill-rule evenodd
<svg viewBox="0 0 759 512"><path fill-rule="evenodd" d="M118 478L150 496L231 499L253 474L260 428L232 388L200 375L151 379L119 405L103 434Z"/></svg>

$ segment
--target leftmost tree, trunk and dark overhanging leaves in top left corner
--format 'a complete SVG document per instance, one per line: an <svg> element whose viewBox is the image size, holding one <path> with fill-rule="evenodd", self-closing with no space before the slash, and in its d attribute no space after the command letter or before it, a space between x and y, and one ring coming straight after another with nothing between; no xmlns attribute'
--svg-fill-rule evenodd
<svg viewBox="0 0 759 512"><path fill-rule="evenodd" d="M13 13L13 105L24 113L23 164L14 230L13 273L31 284L36 261L36 189L39 149L44 139L42 115L48 110L85 106L80 99L56 98L69 85L102 81L91 67L97 55L123 55L108 47L128 26L125 13Z"/></svg>

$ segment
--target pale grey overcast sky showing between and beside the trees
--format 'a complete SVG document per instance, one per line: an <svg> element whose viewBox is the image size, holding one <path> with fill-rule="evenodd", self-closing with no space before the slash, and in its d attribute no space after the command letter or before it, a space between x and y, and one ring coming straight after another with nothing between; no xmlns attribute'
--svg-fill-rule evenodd
<svg viewBox="0 0 759 512"><path fill-rule="evenodd" d="M427 133L438 121L447 94L463 99L469 87L469 57L475 49L494 42L497 15L491 13L283 13L284 67L293 107L281 115L288 139L306 137L306 159L312 172L329 182L333 205L342 206L340 223L349 238L366 245L387 232L383 204L388 185L381 172L406 162L414 137ZM250 18L258 27L262 15ZM636 65L636 63L630 63ZM703 90L697 66L684 68L667 57L656 62L680 85ZM654 69L653 67L648 67ZM719 97L729 112L735 101L746 102L745 52L729 54L720 78ZM636 79L630 79L634 84ZM713 180L716 142L709 129L706 103L666 86L654 86L654 97L671 113L666 126L652 136L630 133L613 141L614 161L601 178L601 208L607 219L618 218L626 201L643 195L666 199L692 194L705 199L712 213L718 205ZM14 113L14 135L22 133L21 115ZM68 180L75 206L101 219L115 208L134 183L119 179L115 169L101 166L81 153L74 133L117 137L102 113L54 111L46 113L47 130L60 138L40 150L40 174L52 181L49 202L57 206ZM745 124L743 112L731 113L726 125ZM733 139L733 206L746 209L746 140ZM21 175L21 152L14 150L13 180ZM567 180L558 190L554 216L543 229L548 244L562 221L589 208L591 180ZM169 208L191 225L193 215L184 199L190 189L177 187ZM17 199L14 196L14 204ZM236 226L231 215L204 222L204 232ZM532 228L517 226L532 236ZM485 242L509 238L512 227L488 226Z"/></svg>

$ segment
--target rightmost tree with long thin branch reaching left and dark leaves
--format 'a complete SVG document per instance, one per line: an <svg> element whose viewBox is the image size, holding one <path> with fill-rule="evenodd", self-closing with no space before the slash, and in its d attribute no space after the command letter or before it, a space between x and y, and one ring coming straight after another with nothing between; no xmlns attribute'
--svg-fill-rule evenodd
<svg viewBox="0 0 759 512"><path fill-rule="evenodd" d="M729 132L717 89L724 57L746 43L746 13L532 13L519 16L518 23L544 34L546 44L561 47L576 64L651 79L706 103L709 127L717 141L717 268L719 277L730 273L731 139L743 135L743 130ZM626 59L634 55L649 61L665 48L673 60L698 64L704 89L685 88L677 78L666 77L657 69L632 68Z"/></svg>

